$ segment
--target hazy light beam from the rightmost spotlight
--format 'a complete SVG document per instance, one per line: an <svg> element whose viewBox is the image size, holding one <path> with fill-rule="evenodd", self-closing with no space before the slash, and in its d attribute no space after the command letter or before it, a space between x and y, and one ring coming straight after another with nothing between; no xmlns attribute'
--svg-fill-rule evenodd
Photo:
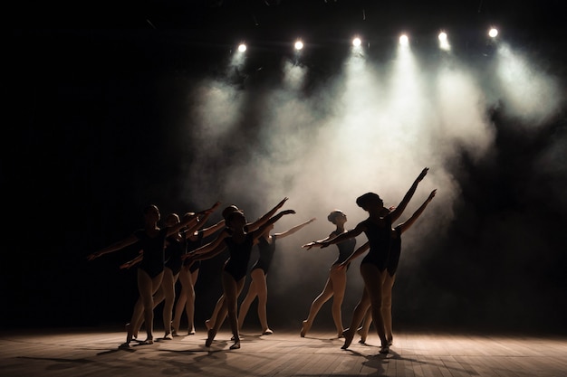
<svg viewBox="0 0 567 377"><path fill-rule="evenodd" d="M506 111L533 126L552 117L565 99L558 82L505 42L499 42L496 52L496 79Z"/></svg>

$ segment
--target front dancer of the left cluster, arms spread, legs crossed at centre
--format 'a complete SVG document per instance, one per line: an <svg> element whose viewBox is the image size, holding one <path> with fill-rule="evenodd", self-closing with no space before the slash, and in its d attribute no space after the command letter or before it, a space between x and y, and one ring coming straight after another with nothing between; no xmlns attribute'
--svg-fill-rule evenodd
<svg viewBox="0 0 567 377"><path fill-rule="evenodd" d="M266 221L258 230L246 232L244 213L241 211L231 212L226 218L226 226L229 228L229 231L223 231L216 240L195 250L193 255L189 257L194 260L208 259L222 252L225 248L230 252L230 258L226 260L222 274L223 304L216 315L215 325L208 330L207 342L205 343L207 347L213 343L218 329L223 324L225 316L228 315L235 342L230 348L240 348L236 306L238 295L244 287L252 247L265 228L278 221L284 214L290 213L295 212L293 210L279 212Z"/></svg>

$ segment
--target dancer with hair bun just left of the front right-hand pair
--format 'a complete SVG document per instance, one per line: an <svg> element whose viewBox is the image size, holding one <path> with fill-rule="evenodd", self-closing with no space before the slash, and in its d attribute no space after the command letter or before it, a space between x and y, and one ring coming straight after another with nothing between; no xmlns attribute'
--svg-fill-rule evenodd
<svg viewBox="0 0 567 377"><path fill-rule="evenodd" d="M309 250L312 247L320 247L322 241L331 240L338 235L346 232L344 229L344 224L347 221L347 215L343 212L334 210L329 214L329 216L327 216L327 220L335 224L336 229L332 231L327 238L306 243L302 246L303 248ZM322 305L326 303L331 297L332 320L334 321L335 328L337 329L337 336L342 337L343 328L341 306L342 299L344 298L344 291L347 286L347 272L346 269L337 269L337 267L345 259L349 258L349 256L352 254L352 251L354 250L355 245L356 240L354 238L342 240L340 243L337 243L337 247L339 248L339 256L332 263L331 269L329 270L329 278L327 278L325 287L323 287L322 292L319 294L319 296L315 297L315 299L313 300L309 309L309 315L307 316L307 319L303 321L302 331L300 334L302 337L307 335L307 333L311 329L311 326L313 325L315 316L317 316L317 313L319 313L319 310L321 310Z"/></svg>

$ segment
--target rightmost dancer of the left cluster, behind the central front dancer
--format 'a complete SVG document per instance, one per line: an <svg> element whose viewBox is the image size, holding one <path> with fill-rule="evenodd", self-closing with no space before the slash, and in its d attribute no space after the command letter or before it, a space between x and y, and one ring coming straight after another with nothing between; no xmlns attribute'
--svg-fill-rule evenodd
<svg viewBox="0 0 567 377"><path fill-rule="evenodd" d="M275 240L283 239L296 231L302 229L305 225L312 223L315 219L305 221L299 225L295 225L288 231L283 231L281 233L274 233L270 235L270 231L274 229L274 224L267 227L260 236L258 240L258 250L259 258L255 262L252 270L250 272L250 277L252 281L248 287L248 292L246 293L245 299L240 304L240 310L238 311L238 329L242 330L242 326L245 322L246 314L250 305L254 302L255 297L258 297L258 318L260 319L260 325L262 326L262 335L270 335L274 332L268 326L268 318L266 313L266 304L268 299L268 287L266 283L266 277L268 275L268 269L272 264L272 259L275 252Z"/></svg>

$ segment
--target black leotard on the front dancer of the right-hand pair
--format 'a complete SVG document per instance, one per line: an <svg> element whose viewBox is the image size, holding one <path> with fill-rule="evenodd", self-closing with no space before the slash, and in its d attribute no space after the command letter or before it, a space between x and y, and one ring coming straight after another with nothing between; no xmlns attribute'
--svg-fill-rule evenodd
<svg viewBox="0 0 567 377"><path fill-rule="evenodd" d="M384 216L380 222L367 219L364 223L366 224L366 231L364 232L370 242L370 250L360 264L370 263L383 271L388 264L392 227L391 216L389 214Z"/></svg>

